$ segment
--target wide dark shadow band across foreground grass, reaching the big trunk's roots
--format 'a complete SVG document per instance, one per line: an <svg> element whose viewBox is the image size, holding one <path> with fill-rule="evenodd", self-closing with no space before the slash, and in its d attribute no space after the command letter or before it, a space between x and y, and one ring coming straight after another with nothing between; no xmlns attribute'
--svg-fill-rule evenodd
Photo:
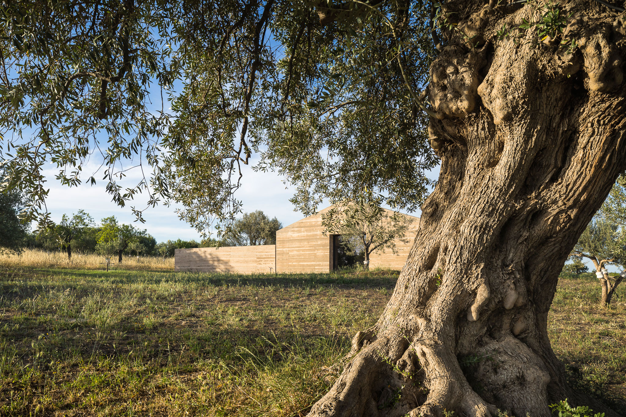
<svg viewBox="0 0 626 417"><path fill-rule="evenodd" d="M33 368L44 373L58 371L59 363L98 368L103 361L114 367L148 366L156 372L172 366L184 369L198 363L225 363L245 372L250 366L284 364L295 358L337 356L347 353L351 344L348 334L322 329L181 329L166 324L133 331L120 323L103 333L76 321L53 334L46 326L49 323L34 317L21 324L5 329L0 337L14 341L12 374L17 379ZM39 334L43 337L37 338Z"/></svg>

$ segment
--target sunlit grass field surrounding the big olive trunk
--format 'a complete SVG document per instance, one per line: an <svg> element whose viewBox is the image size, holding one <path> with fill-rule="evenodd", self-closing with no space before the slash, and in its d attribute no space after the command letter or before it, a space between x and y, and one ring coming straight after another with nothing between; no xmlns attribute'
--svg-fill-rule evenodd
<svg viewBox="0 0 626 417"><path fill-rule="evenodd" d="M397 273L241 276L4 264L2 416L302 416ZM550 336L571 383L626 413L626 295L563 279Z"/></svg>

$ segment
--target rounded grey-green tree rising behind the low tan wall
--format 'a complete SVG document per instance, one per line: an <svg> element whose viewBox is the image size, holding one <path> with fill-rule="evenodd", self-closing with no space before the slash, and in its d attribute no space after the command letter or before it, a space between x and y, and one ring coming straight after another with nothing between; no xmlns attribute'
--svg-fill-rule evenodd
<svg viewBox="0 0 626 417"><path fill-rule="evenodd" d="M224 246L256 246L276 244L276 231L282 228L277 218L270 219L263 211L244 213L228 229Z"/></svg>

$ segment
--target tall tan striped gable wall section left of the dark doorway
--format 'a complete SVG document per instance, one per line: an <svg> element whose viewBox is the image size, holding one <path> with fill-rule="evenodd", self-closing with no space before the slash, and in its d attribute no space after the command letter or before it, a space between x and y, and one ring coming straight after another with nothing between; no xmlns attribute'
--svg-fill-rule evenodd
<svg viewBox="0 0 626 417"><path fill-rule="evenodd" d="M322 214L329 209L319 211L276 232L278 273L332 271L332 235L322 234Z"/></svg>

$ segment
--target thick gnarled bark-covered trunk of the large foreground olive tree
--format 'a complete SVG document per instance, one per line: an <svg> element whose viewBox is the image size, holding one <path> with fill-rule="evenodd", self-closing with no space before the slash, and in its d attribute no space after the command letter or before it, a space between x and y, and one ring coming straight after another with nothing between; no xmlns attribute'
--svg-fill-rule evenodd
<svg viewBox="0 0 626 417"><path fill-rule="evenodd" d="M563 263L625 168L626 19L560 2L568 55L536 30L498 39L543 11L490 3L445 5L459 21L428 88L439 181L389 304L311 417L547 417L565 398L615 415L568 388L546 322Z"/></svg>

